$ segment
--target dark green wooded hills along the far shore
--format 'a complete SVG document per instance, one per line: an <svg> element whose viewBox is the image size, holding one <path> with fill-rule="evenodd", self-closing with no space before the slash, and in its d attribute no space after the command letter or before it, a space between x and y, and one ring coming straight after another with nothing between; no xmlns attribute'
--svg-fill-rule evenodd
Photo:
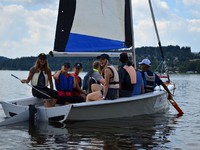
<svg viewBox="0 0 200 150"><path fill-rule="evenodd" d="M190 47L166 46L162 47L164 59L168 69L171 72L194 72L200 73L200 53L192 53ZM162 63L162 57L159 47L140 47L135 49L136 62L148 58L152 62L151 69L159 71ZM70 62L72 67L76 62L83 64L83 71L88 71L92 67L92 62L96 58L69 58L69 57L52 57L47 56L49 66L52 70L60 69L64 62ZM0 70L29 70L35 63L37 57L21 57L9 59L0 57ZM119 65L119 58L111 58L111 63ZM136 64L138 66L138 64Z"/></svg>

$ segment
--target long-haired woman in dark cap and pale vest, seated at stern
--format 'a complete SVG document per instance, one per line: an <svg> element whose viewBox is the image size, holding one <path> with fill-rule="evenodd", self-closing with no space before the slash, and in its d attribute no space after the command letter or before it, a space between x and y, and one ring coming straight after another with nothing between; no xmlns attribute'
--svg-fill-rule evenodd
<svg viewBox="0 0 200 150"><path fill-rule="evenodd" d="M32 95L38 98L47 99L58 98L58 92L53 89L51 69L49 68L47 56L44 53L38 55L35 65L30 69L27 79L21 80L22 83L31 81ZM50 88L48 88L50 84Z"/></svg>

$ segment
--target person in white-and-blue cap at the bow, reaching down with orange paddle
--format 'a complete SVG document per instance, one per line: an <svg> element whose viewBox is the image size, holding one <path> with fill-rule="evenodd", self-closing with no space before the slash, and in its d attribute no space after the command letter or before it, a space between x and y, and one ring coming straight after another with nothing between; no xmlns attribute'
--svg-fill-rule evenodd
<svg viewBox="0 0 200 150"><path fill-rule="evenodd" d="M151 61L149 59L143 59L141 62L139 62L139 65L141 65L141 73L142 78L144 79L144 88L145 93L153 92L156 84L162 85L163 88L168 93L168 99L172 99L172 94L169 91L168 87L162 82L162 80L158 77L157 74L153 73L149 68L151 67Z"/></svg>

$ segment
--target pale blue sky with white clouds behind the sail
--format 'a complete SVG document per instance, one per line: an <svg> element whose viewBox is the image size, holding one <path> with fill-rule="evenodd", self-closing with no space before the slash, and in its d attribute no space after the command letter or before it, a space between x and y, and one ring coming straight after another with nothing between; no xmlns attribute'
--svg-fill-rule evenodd
<svg viewBox="0 0 200 150"><path fill-rule="evenodd" d="M53 50L58 0L0 0L0 56ZM200 0L152 0L162 46L200 52ZM148 0L133 0L135 47L158 46Z"/></svg>

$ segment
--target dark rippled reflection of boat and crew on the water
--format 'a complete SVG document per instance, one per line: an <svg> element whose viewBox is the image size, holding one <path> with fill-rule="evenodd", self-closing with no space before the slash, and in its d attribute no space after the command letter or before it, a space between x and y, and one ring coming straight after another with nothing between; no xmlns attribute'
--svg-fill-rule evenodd
<svg viewBox="0 0 200 150"><path fill-rule="evenodd" d="M176 129L176 117L158 114L100 121L23 123L28 131L23 148L50 149L161 149Z"/></svg>

